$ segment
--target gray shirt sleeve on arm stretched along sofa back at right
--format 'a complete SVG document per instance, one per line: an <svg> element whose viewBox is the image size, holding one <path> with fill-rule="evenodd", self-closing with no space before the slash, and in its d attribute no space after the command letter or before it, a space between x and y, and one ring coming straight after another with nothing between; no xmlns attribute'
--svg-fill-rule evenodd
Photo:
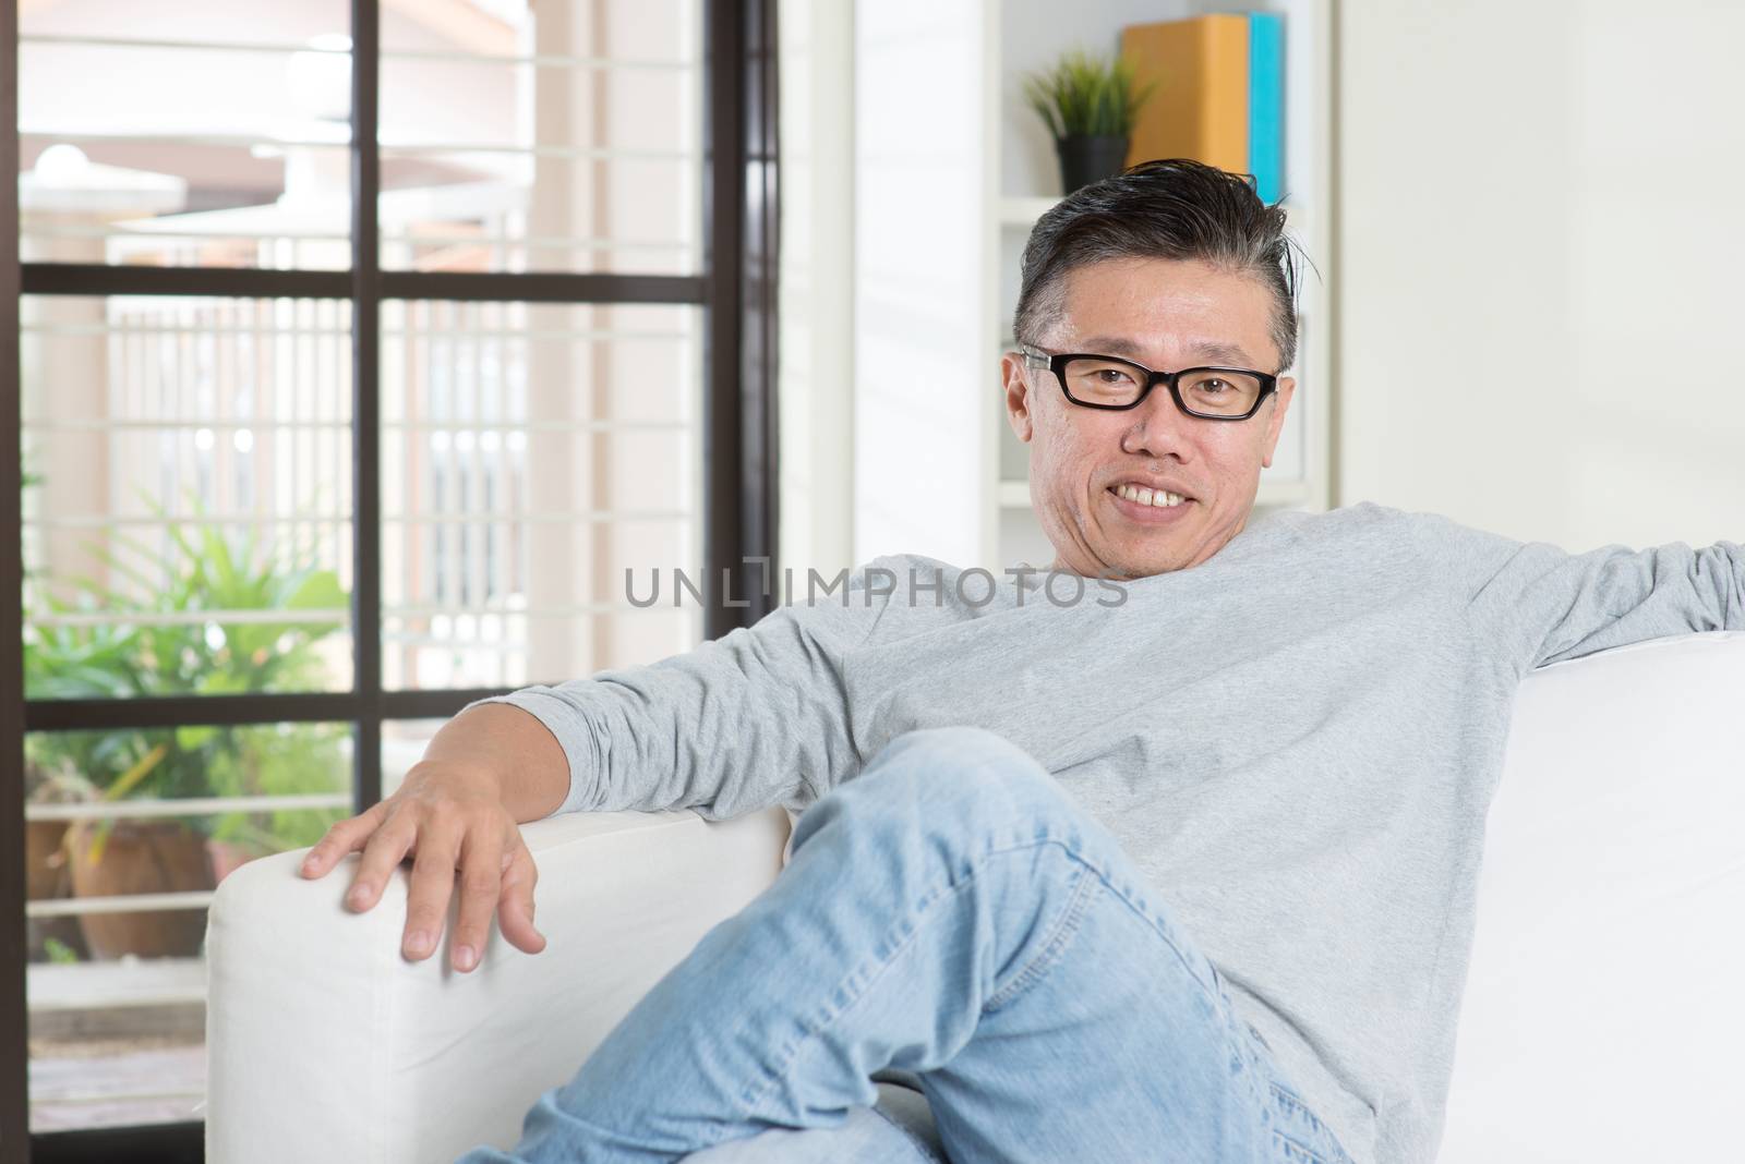
<svg viewBox="0 0 1745 1164"><path fill-rule="evenodd" d="M1735 542L1569 554L1466 533L1471 615L1520 673L1653 638L1745 629L1745 551Z"/></svg>

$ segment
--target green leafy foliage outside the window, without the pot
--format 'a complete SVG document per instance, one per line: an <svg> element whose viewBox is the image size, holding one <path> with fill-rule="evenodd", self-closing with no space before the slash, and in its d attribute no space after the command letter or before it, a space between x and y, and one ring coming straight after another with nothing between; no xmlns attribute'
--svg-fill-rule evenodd
<svg viewBox="0 0 1745 1164"><path fill-rule="evenodd" d="M349 596L332 570L281 552L248 531L225 537L195 518L166 518L171 556L112 533L117 549L94 551L141 601L92 579L72 579L72 596L35 591L42 613L99 613L75 626L31 626L26 612L24 690L31 699L138 699L319 688L319 643L344 631L328 620L227 620L223 612L344 610ZM211 619L154 624L152 613L211 612ZM143 730L42 732L28 737L31 761L79 772L105 800L126 796L251 796L344 788L349 732L335 723ZM297 849L344 817L339 809L229 812L174 817L216 840L257 852ZM108 836L105 821L98 843Z"/></svg>

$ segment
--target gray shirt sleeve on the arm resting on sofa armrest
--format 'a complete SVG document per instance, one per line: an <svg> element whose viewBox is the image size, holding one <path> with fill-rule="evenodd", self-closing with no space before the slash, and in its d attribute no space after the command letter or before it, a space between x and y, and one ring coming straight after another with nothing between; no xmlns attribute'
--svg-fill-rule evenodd
<svg viewBox="0 0 1745 1164"><path fill-rule="evenodd" d="M860 767L843 667L888 603L867 587L876 565L670 659L478 702L520 707L562 744L557 812L803 807Z"/></svg>

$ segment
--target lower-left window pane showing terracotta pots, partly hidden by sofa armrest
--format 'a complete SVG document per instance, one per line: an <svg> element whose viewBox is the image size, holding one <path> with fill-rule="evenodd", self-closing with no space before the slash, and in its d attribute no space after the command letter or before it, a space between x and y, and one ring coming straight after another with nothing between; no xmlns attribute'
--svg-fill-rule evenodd
<svg viewBox="0 0 1745 1164"><path fill-rule="evenodd" d="M347 725L26 737L31 1131L199 1119L206 904L351 810Z"/></svg>

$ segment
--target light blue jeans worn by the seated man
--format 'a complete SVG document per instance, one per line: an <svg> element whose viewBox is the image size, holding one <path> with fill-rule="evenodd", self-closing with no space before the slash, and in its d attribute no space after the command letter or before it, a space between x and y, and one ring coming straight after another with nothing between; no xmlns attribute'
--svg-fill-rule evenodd
<svg viewBox="0 0 1745 1164"><path fill-rule="evenodd" d="M892 1070L927 1115L879 1103ZM977 728L902 735L813 805L515 1150L461 1164L688 1155L1349 1164L1115 840Z"/></svg>

